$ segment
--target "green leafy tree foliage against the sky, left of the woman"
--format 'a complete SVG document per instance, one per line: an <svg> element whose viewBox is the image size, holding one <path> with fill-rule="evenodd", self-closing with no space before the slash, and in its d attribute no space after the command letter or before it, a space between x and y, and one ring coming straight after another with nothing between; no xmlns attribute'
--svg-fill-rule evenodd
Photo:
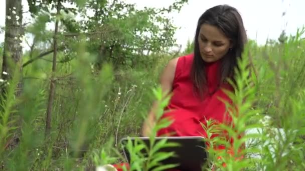
<svg viewBox="0 0 305 171"><path fill-rule="evenodd" d="M97 69L103 62L111 62L114 68L122 65L134 68L145 63L149 54L164 53L175 46L177 27L166 14L179 11L186 2L176 0L168 8L136 9L135 4L123 0L61 0L60 46L65 49L66 59L74 57L73 46L79 35L85 35L87 49L97 59L94 64ZM37 44L45 44L52 38L46 25L55 20L54 2L29 0L29 3L36 15L35 22L27 27L28 33L35 36Z"/></svg>

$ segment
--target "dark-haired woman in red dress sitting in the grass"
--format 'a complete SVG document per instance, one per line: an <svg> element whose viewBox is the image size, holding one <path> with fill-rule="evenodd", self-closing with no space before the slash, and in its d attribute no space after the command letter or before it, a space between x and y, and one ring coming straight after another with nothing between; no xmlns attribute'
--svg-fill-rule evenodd
<svg viewBox="0 0 305 171"><path fill-rule="evenodd" d="M231 99L222 90L233 88L234 68L247 41L242 18L236 8L217 5L199 18L194 53L171 59L161 75L161 87L172 94L163 117L173 123L157 135L206 136L201 123L208 119L230 122L225 104ZM149 136L150 125L156 122L156 104L142 126L142 135ZM216 135L214 135L216 136Z"/></svg>

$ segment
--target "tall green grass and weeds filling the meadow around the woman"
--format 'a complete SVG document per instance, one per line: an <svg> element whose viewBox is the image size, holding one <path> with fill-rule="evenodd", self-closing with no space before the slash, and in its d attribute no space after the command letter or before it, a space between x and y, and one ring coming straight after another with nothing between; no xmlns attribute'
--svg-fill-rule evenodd
<svg viewBox="0 0 305 171"><path fill-rule="evenodd" d="M231 94L241 115L237 117L233 110L231 114L235 118L236 126L220 127L228 130L233 137L250 128L259 128L262 132L248 134L233 144L237 148L243 142L256 139L256 143L249 143L248 148L241 153L234 153L235 157L245 155L242 161L235 160L226 150L209 149L210 161L220 170L305 168L305 40L301 38L303 32L300 29L295 37L289 37L282 44L248 44L246 51L249 51L253 58L257 75L247 78L248 70L242 67L244 69L238 77L239 91ZM86 49L79 48L77 56L78 58L67 63L58 64L52 131L47 137L44 136L44 128L50 63L40 60L25 67L24 91L20 97L13 95L14 81L8 85L11 89L7 101L2 104L5 110L0 113L2 169L92 170L96 165L124 162L118 141L124 136L139 135L140 126L151 102L155 99L161 100L158 98L162 94L160 89L155 89L155 93L152 93L151 89L158 87L159 73L174 56L155 54L149 56L152 60L147 61L149 64L145 67L139 65L137 68L118 70L105 63L99 72L92 70L94 57L88 54ZM247 59L246 53L244 57ZM247 60L241 61L240 65L245 66L246 62ZM256 83L255 86L242 88L250 80ZM246 96L247 101L243 103L241 99ZM20 106L16 108L18 110L15 109L15 104ZM165 104L166 101L163 105ZM160 106L160 109L162 107ZM266 121L263 121L264 118ZM12 144L10 142L17 136L14 121L17 123L18 120L22 120L22 124L17 124L22 136L18 145L10 146L8 144ZM280 128L285 136L276 131ZM208 132L215 131L213 126L206 129ZM153 137L150 138L154 141ZM208 140L216 144L223 142L221 138ZM166 144L164 142L163 145ZM132 144L129 147L134 150L145 148ZM147 151L153 149L154 146L151 146ZM260 157L247 157L251 153ZM140 155L137 152L133 154L134 158ZM166 154L160 156L164 157ZM217 159L218 156L222 159ZM150 161L154 158L158 160L154 153L149 157ZM131 164L134 170L146 170L151 166L144 160L134 161ZM222 162L226 162L227 166L223 167Z"/></svg>

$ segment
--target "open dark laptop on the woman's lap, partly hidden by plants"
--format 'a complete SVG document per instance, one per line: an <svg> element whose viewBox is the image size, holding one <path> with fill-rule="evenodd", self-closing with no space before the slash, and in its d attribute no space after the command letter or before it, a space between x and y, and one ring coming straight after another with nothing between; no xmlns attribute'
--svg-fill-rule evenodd
<svg viewBox="0 0 305 171"><path fill-rule="evenodd" d="M162 152L175 152L175 156L171 156L162 160L163 164L179 164L175 169L201 171L202 166L206 164L208 152L206 151L205 139L202 136L164 136L156 137L155 144L161 139L167 139L167 142L179 143L179 146L161 148ZM124 137L121 139L123 153L126 160L130 164L130 155L125 146L128 140L134 145L135 139L141 139L147 147L149 147L149 137ZM145 155L145 151L141 152Z"/></svg>

